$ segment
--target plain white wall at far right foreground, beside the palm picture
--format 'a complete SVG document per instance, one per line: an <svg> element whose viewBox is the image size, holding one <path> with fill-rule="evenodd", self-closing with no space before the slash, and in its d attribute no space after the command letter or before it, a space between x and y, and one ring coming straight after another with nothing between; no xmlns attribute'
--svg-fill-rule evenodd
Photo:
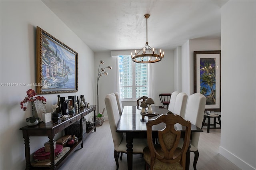
<svg viewBox="0 0 256 170"><path fill-rule="evenodd" d="M220 154L256 169L256 1L221 8L222 127Z"/></svg>

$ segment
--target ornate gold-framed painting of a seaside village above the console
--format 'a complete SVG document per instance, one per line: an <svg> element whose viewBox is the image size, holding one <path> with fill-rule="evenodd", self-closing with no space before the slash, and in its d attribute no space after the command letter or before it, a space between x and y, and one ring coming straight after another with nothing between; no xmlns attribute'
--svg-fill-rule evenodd
<svg viewBox="0 0 256 170"><path fill-rule="evenodd" d="M78 53L38 26L36 34L36 92L77 92Z"/></svg>

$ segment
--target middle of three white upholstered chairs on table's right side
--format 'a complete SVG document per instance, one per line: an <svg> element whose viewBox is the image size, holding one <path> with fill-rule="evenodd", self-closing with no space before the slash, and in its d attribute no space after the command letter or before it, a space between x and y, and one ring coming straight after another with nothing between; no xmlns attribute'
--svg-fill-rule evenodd
<svg viewBox="0 0 256 170"><path fill-rule="evenodd" d="M176 96L173 113L176 115L180 115L182 118L184 118L187 100L188 95L186 93L178 93L178 95Z"/></svg>

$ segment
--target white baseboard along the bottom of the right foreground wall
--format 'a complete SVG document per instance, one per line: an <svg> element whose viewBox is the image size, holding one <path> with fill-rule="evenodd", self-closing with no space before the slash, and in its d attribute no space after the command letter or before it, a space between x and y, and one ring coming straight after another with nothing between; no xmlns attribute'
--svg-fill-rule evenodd
<svg viewBox="0 0 256 170"><path fill-rule="evenodd" d="M222 154L222 156L224 156L228 160L230 160L230 162L241 168L242 170L256 170L255 168L253 168L252 166L250 166L249 164L247 164L246 162L244 162L243 160L241 160L236 155L232 154L222 146L219 147L219 153Z"/></svg>

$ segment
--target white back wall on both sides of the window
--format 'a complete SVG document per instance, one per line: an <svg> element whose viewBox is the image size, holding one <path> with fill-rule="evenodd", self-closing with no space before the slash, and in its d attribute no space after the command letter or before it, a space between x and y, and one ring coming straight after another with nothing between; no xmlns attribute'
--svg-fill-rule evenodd
<svg viewBox="0 0 256 170"><path fill-rule="evenodd" d="M112 55L117 55L118 53L115 53L114 51L112 52ZM104 101L105 96L109 93L116 92L116 59L115 57L111 57L110 51L95 53L95 83L97 83L97 74L100 60L105 61L103 65L104 67L108 65L112 66L112 69L107 71L108 75L104 75L99 80L99 111L101 112L103 108L106 108ZM158 95L160 93L172 93L174 91L174 51L164 51L164 59L162 59L162 61L160 62L152 63L152 70L152 81L154 83L154 102L155 105L161 105ZM123 101L122 105L136 106L137 101ZM108 119L106 116L107 113L105 115L105 118Z"/></svg>

